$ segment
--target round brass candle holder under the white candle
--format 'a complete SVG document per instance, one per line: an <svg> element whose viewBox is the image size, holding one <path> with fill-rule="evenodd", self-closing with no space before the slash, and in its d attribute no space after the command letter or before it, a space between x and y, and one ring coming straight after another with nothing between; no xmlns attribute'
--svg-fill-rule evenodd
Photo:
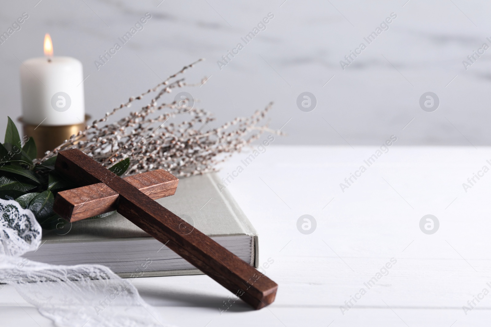
<svg viewBox="0 0 491 327"><path fill-rule="evenodd" d="M85 121L90 120L89 115L85 115ZM61 126L36 126L26 124L19 118L19 122L24 127L24 135L32 137L36 142L37 157L42 158L46 151L51 151L57 146L68 140L73 134L85 129L85 124L61 125Z"/></svg>

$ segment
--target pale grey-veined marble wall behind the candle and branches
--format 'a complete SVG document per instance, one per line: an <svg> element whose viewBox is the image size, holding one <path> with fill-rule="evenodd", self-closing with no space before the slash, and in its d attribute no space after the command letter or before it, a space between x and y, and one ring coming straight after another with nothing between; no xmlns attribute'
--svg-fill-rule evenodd
<svg viewBox="0 0 491 327"><path fill-rule="evenodd" d="M484 42L491 46L488 1L38 1L0 4L2 32L29 14L0 45L1 133L7 114L21 115L19 60L41 56L49 32L55 55L82 61L89 75L86 110L93 117L204 57L187 77L212 77L187 91L218 122L274 101L272 127L292 118L282 129L289 136L278 144L377 145L392 134L401 145L491 143L491 50L467 71L462 64ZM152 19L144 30L98 71L94 60L146 12ZM274 19L267 29L220 71L217 60L269 12ZM339 61L391 12L397 19L390 28L343 71ZM296 105L304 91L317 98L312 112ZM435 112L419 107L427 91L441 101Z"/></svg>

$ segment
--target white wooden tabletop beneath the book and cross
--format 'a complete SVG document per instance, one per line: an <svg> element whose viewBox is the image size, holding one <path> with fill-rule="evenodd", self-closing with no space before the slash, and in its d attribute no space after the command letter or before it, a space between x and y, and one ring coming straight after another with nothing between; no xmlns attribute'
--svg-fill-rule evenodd
<svg viewBox="0 0 491 327"><path fill-rule="evenodd" d="M491 294L467 315L463 305L491 291L491 172L467 192L462 184L491 168L491 149L394 144L367 167L377 149L270 146L230 184L260 234L260 262L274 260L267 275L279 288L269 307L236 302L220 315L229 293L207 276L139 278L135 286L163 323L181 327L488 326ZM361 165L366 172L343 193L339 184ZM308 235L297 229L304 214L317 222ZM419 227L427 214L440 224L431 235ZM391 258L388 275L368 289ZM361 288L366 294L356 295ZM340 305L355 295L343 315ZM53 326L9 286L0 317L1 326Z"/></svg>

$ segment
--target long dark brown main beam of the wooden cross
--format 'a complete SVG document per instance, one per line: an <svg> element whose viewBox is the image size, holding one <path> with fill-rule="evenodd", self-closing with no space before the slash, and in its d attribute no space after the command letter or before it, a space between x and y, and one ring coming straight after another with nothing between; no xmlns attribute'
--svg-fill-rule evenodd
<svg viewBox="0 0 491 327"><path fill-rule="evenodd" d="M274 301L278 285L188 225L82 151L58 153L55 169L76 183L103 182L119 194L117 211L255 309Z"/></svg>

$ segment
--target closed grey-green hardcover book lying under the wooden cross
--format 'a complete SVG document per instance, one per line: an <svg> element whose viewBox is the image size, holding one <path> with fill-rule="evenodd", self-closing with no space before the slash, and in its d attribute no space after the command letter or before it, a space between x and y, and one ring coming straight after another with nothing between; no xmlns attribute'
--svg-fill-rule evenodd
<svg viewBox="0 0 491 327"><path fill-rule="evenodd" d="M215 174L180 178L175 195L157 202L257 268L257 233L219 182ZM121 277L201 274L119 213L43 230L42 242L24 256L59 265L102 264Z"/></svg>

